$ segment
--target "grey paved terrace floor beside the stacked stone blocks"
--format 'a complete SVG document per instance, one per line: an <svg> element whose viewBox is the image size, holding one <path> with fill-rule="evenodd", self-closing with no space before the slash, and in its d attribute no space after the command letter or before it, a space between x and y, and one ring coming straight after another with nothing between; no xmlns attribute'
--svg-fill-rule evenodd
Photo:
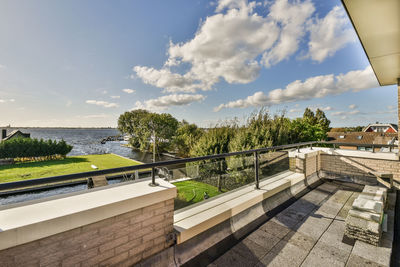
<svg viewBox="0 0 400 267"><path fill-rule="evenodd" d="M209 266L388 266L389 235L379 248L343 237L347 213L361 189L320 185Z"/></svg>

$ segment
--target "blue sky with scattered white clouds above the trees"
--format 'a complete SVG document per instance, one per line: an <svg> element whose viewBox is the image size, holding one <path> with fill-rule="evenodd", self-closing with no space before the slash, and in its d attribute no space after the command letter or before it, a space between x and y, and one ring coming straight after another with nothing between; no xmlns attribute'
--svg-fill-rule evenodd
<svg viewBox="0 0 400 267"><path fill-rule="evenodd" d="M144 108L202 127L266 108L397 122L339 0L2 0L0 126L116 127Z"/></svg>

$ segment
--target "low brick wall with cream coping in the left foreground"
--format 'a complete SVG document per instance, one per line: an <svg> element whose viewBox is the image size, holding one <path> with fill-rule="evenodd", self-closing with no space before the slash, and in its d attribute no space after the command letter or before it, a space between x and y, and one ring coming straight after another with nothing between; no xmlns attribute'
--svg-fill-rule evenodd
<svg viewBox="0 0 400 267"><path fill-rule="evenodd" d="M176 188L110 186L0 210L1 266L130 266L173 245Z"/></svg>

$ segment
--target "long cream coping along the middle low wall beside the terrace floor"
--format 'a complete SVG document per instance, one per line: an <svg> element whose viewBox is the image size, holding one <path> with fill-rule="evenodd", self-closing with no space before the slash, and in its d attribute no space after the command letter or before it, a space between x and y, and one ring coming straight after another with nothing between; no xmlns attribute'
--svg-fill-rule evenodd
<svg viewBox="0 0 400 267"><path fill-rule="evenodd" d="M250 184L200 203L195 207L176 211L174 228L177 231L178 244L230 219L302 180L304 180L304 174L284 171L260 181L260 189L258 190L254 188L254 184Z"/></svg>

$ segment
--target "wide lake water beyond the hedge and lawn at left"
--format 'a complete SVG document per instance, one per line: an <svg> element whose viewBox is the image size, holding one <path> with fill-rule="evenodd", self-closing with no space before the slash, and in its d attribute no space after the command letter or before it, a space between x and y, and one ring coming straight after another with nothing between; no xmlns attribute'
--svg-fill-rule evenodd
<svg viewBox="0 0 400 267"><path fill-rule="evenodd" d="M68 156L90 155L114 153L130 159L139 160L141 162L152 162L151 153L143 153L132 150L129 147L122 146L127 144L125 141L113 141L101 144L103 138L108 136L121 135L117 129L112 128L7 128L7 133L13 130L20 130L23 133L30 133L31 138L44 140L52 139L60 141L64 139L68 144L73 146ZM166 156L157 157L157 161L168 160Z"/></svg>

